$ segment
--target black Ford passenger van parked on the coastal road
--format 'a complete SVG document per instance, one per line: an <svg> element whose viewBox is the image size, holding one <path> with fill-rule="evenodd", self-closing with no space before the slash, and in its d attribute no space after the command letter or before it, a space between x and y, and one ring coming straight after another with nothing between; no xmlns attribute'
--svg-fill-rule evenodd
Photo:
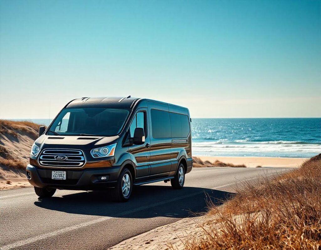
<svg viewBox="0 0 321 250"><path fill-rule="evenodd" d="M39 197L60 190L106 190L127 201L133 185L184 186L192 170L187 108L134 97L69 102L39 128L26 175Z"/></svg>

